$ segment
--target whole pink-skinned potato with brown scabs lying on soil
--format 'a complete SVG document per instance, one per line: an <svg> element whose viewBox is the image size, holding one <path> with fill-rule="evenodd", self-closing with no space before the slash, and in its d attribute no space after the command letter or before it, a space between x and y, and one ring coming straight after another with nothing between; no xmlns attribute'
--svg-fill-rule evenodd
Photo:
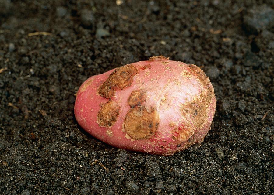
<svg viewBox="0 0 274 195"><path fill-rule="evenodd" d="M87 79L74 112L85 131L109 145L168 156L203 141L215 108L199 67L156 56Z"/></svg>

